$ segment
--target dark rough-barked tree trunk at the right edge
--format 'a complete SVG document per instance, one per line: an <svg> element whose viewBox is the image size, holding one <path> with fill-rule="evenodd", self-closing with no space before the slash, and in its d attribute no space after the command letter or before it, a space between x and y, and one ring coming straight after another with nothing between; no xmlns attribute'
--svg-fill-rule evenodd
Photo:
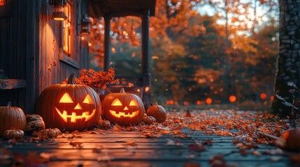
<svg viewBox="0 0 300 167"><path fill-rule="evenodd" d="M280 0L280 38L275 94L293 103L300 88L300 0ZM297 88L294 88L297 86ZM294 94L293 92L297 92ZM294 94L294 98L293 98ZM275 97L272 111L280 117L290 116L291 106Z"/></svg>

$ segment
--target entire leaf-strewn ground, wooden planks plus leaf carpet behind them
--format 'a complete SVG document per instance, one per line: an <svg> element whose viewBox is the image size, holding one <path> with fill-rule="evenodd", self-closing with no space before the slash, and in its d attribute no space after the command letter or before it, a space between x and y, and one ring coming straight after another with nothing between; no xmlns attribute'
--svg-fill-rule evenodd
<svg viewBox="0 0 300 167"><path fill-rule="evenodd" d="M297 153L286 154L285 150L275 146L271 150L266 146L260 147L262 144L274 145L274 141L289 128L288 119L280 120L272 114L255 111L213 109L169 111L166 122L152 125L145 125L142 122L140 125L129 127L112 125L109 129L99 129L95 126L83 132L63 131L57 138L48 138L38 132L18 140L2 138L0 160L2 163L21 166L26 164L43 166L63 161L72 161L75 164L73 166L84 166L80 163L85 163L86 160L93 161L97 165L106 161L110 161L112 165L120 161L131 161L133 165L141 159L145 162L147 158L159 164L166 158L170 163L178 161L185 166L201 166L201 163L210 166L229 166L227 161L234 159L243 161L241 159L248 154L252 156L250 159L260 157L257 161L262 162L265 161L262 154L266 154L269 161L280 161L281 164L285 164L288 155L293 163L299 164L300 157ZM222 145L227 145L227 149L224 150ZM54 151L44 152L41 149L49 147ZM36 150L24 154L22 150L24 148ZM81 153L73 154L73 158L64 156L72 150ZM117 153L117 150L123 153ZM224 154L219 154L215 150L223 150ZM127 154L132 157L127 157ZM169 154L169 157L166 157L166 154ZM207 158L208 156L210 157ZM253 160L245 161L249 163Z"/></svg>

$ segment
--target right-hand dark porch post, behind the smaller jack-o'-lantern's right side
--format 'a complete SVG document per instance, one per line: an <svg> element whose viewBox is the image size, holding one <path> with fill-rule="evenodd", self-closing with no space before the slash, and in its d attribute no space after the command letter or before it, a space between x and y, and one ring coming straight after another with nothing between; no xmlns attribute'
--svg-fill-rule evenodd
<svg viewBox="0 0 300 167"><path fill-rule="evenodd" d="M150 10L146 10L142 16L142 76L145 95L143 98L144 104L150 104L150 69L149 69L149 17ZM148 108L148 106L145 106Z"/></svg>

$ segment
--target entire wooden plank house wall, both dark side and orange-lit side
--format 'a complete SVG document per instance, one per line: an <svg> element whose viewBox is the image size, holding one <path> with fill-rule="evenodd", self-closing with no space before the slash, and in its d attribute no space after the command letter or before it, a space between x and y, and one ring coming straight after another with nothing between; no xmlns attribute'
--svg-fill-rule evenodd
<svg viewBox="0 0 300 167"><path fill-rule="evenodd" d="M76 4L78 0L73 0ZM46 87L60 83L71 74L88 65L86 42L76 36L79 68L59 61L59 22L43 13L48 0L9 0L13 12L8 16L0 15L0 69L9 79L26 79L27 87L20 91L17 101L25 113L34 113L34 102ZM87 1L81 2L81 13L87 12ZM76 9L76 5L73 5ZM78 8L77 8L78 10ZM78 15L78 14L77 14ZM73 17L77 17L76 11ZM76 21L76 20L75 20ZM76 27L76 23L74 23ZM76 27L77 29L77 27ZM73 34L76 34L74 29ZM55 48L55 49L53 49ZM53 61L51 71L48 65ZM3 98L2 98L3 96ZM0 92L1 103L11 100ZM12 97L15 97L13 95ZM0 103L0 105L1 105Z"/></svg>

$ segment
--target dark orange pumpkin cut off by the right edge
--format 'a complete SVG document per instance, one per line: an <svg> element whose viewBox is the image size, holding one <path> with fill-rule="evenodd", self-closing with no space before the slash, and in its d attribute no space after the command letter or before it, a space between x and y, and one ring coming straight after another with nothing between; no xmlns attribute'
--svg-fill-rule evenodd
<svg viewBox="0 0 300 167"><path fill-rule="evenodd" d="M288 150L300 150L300 128L287 129L282 138L285 139Z"/></svg>

